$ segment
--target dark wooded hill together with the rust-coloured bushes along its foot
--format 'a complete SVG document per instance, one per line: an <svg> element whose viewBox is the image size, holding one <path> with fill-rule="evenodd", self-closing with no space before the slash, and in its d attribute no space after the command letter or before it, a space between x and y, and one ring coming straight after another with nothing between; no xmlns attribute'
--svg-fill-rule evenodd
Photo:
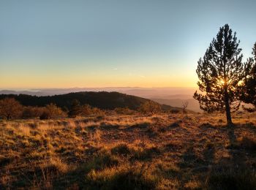
<svg viewBox="0 0 256 190"><path fill-rule="evenodd" d="M56 96L0 95L0 118L75 118L77 116L170 112L180 109L117 92L78 92Z"/></svg>

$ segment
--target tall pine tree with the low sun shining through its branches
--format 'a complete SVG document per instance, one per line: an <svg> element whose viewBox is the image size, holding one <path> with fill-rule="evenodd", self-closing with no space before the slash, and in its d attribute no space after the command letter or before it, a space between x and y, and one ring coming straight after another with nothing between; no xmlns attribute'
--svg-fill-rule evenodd
<svg viewBox="0 0 256 190"><path fill-rule="evenodd" d="M225 111L227 124L232 124L231 110L238 110L240 106L238 86L252 66L250 61L242 62L238 45L236 32L233 34L226 24L219 28L216 39L197 62L197 85L202 94L196 91L194 98L200 108L209 113Z"/></svg>

